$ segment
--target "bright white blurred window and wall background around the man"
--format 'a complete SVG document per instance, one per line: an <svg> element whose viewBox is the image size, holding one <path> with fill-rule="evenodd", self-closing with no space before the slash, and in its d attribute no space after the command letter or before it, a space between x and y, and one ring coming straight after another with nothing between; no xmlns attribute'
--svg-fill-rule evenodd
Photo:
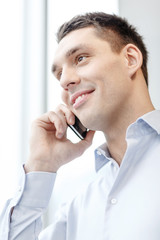
<svg viewBox="0 0 160 240"><path fill-rule="evenodd" d="M149 91L160 109L159 10L158 0L0 0L0 211L16 191L19 167L28 157L31 122L61 102L58 81L51 73L58 27L76 14L91 11L127 18L148 48ZM95 178L93 150L103 142L103 135L96 133L83 157L58 171L44 227L61 203Z"/></svg>

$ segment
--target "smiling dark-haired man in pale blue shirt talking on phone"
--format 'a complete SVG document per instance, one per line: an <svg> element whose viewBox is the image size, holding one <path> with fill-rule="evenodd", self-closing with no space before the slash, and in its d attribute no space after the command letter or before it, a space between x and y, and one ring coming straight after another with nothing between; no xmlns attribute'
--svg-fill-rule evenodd
<svg viewBox="0 0 160 240"><path fill-rule="evenodd" d="M160 111L148 93L147 51L124 19L105 13L77 16L58 32L53 73L65 105L32 125L22 190L1 217L1 239L159 240ZM75 115L91 129L73 144ZM56 171L82 155L94 131L106 143L95 151L99 176L41 231ZM25 177L24 177L25 176Z"/></svg>

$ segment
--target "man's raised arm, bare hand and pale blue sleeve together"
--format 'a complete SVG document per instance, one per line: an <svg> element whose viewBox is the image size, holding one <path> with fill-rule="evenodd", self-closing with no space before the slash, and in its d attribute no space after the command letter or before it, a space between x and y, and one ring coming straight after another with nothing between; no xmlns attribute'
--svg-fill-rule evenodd
<svg viewBox="0 0 160 240"><path fill-rule="evenodd" d="M93 132L89 132L86 139L79 143L73 144L69 141L66 138L66 122L74 124L74 115L65 106L61 106L56 112L46 113L34 121L30 157L25 164L24 191L17 200L13 199L5 208L1 218L3 223L5 222L2 223L2 235L0 235L3 236L3 240L38 239L41 231L41 216L49 202L55 172L63 164L80 156L91 144ZM47 190L48 186L49 190ZM52 238L47 237L47 240L65 240L64 216L65 214L62 213L63 220L54 225Z"/></svg>

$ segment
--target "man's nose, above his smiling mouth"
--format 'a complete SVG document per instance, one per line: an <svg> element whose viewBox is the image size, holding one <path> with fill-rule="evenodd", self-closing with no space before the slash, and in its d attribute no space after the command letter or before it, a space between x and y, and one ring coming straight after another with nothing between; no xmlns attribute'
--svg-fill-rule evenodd
<svg viewBox="0 0 160 240"><path fill-rule="evenodd" d="M80 78L76 70L69 67L64 67L61 73L60 85L63 89L69 90L80 82Z"/></svg>

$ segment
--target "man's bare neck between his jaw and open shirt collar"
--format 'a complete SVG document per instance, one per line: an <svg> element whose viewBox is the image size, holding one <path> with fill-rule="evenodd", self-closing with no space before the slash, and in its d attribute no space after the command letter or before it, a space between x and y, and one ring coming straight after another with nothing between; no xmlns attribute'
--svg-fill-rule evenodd
<svg viewBox="0 0 160 240"><path fill-rule="evenodd" d="M137 118L147 112L153 111L154 107L150 100L148 90L142 96L141 89L134 95L134 100L127 103L124 109L115 113L109 128L104 131L108 149L111 157L120 165L127 149L126 130L128 126L135 122ZM114 120L113 120L114 119Z"/></svg>

